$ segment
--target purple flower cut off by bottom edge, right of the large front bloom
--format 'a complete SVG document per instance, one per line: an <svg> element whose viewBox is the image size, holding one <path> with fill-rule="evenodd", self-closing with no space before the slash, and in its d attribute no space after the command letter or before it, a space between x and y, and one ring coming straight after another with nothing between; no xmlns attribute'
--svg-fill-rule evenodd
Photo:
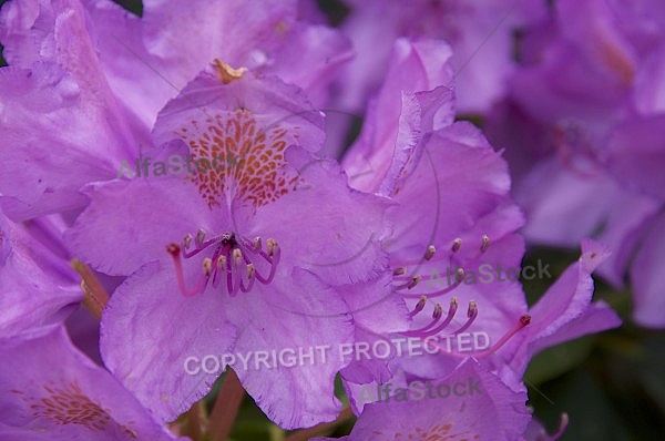
<svg viewBox="0 0 665 441"><path fill-rule="evenodd" d="M429 383L411 379L411 389L401 400L366 404L348 441L478 439L511 441L526 429L531 416L524 406L526 393L513 391L478 362L468 360L450 375ZM458 387L458 397L453 393ZM439 388L439 386L441 386ZM447 387L447 388L446 388ZM393 388L393 389L396 389ZM448 394L446 394L446 390ZM472 393L478 391L478 393ZM441 392L441 393L440 393ZM442 398L443 397L443 398ZM377 398L377 397L372 397ZM318 438L329 440L329 438Z"/></svg>

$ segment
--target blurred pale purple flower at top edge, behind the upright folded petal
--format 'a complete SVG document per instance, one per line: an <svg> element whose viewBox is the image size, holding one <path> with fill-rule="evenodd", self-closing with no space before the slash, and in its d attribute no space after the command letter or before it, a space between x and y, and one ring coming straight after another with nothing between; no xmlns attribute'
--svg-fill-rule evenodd
<svg viewBox="0 0 665 441"><path fill-rule="evenodd" d="M397 0L351 3L342 30L354 41L358 55L340 81L345 91L345 101L340 104L352 110L358 110L381 84L390 49L398 38L447 41L453 50L454 71L464 69L456 79L460 110L487 110L503 95L503 83L513 68L512 28L526 18L535 19L544 13L542 2L524 1L512 10L515 2L510 0L419 0L409 8ZM381 20L376 20L377 17ZM504 17L501 27L495 29ZM488 71L492 74L488 75Z"/></svg>

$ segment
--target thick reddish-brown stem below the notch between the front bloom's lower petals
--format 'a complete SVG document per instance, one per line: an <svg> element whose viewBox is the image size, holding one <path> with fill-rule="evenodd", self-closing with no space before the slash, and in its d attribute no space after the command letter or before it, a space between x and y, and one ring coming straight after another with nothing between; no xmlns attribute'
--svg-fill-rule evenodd
<svg viewBox="0 0 665 441"><path fill-rule="evenodd" d="M228 369L211 413L211 441L226 441L244 396L245 389L238 376L233 369Z"/></svg>

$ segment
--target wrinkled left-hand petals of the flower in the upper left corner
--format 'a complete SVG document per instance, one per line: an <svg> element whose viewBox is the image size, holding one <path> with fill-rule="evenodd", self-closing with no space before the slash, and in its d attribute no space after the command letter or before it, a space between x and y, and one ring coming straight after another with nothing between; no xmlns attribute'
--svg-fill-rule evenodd
<svg viewBox="0 0 665 441"><path fill-rule="evenodd" d="M117 173L147 133L109 88L78 1L0 12L0 204L13 219L81 208L79 188Z"/></svg>

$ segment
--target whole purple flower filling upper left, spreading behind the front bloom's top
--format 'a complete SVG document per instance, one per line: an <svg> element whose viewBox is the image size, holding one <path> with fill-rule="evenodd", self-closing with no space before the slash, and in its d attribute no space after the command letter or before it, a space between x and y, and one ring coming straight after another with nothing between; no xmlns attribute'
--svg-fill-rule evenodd
<svg viewBox="0 0 665 441"><path fill-rule="evenodd" d="M0 204L13 219L82 208L85 184L151 144L157 112L223 58L278 74L325 105L350 44L296 21L296 1L146 1L139 19L104 0L12 1L0 12ZM242 17L243 20L237 18ZM89 21L88 18L90 18ZM193 25L192 23L196 24Z"/></svg>

